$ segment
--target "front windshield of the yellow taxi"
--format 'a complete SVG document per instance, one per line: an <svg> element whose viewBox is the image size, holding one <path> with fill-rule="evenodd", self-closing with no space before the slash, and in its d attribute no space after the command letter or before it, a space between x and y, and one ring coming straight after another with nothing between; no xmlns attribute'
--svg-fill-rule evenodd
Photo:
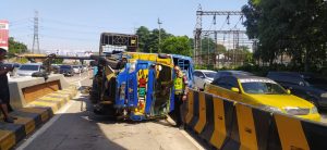
<svg viewBox="0 0 327 150"><path fill-rule="evenodd" d="M286 95L286 90L275 83L249 82L242 83L246 93L257 95Z"/></svg>

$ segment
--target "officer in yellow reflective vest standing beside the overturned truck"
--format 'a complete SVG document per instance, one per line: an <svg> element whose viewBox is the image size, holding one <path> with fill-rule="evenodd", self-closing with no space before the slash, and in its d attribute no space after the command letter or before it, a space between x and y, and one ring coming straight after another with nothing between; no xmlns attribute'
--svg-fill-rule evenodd
<svg viewBox="0 0 327 150"><path fill-rule="evenodd" d="M183 127L183 121L181 115L181 107L186 100L187 93L187 78L181 71L179 66L174 66L175 78L173 80L174 85L174 115L175 115L175 126Z"/></svg>

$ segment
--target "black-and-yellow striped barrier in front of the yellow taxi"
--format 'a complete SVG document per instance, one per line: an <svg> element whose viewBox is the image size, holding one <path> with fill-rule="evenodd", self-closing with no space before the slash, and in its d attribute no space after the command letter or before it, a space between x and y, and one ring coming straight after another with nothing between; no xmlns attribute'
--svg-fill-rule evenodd
<svg viewBox="0 0 327 150"><path fill-rule="evenodd" d="M327 126L190 90L189 128L217 149L327 149Z"/></svg>

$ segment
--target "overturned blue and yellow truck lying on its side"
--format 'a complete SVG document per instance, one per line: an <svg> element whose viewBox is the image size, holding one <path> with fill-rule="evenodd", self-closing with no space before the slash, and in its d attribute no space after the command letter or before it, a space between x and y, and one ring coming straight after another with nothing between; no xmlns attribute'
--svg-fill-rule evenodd
<svg viewBox="0 0 327 150"><path fill-rule="evenodd" d="M99 55L92 62L97 70L90 90L96 113L143 121L174 110L173 66L179 65L192 80L192 59L136 49L137 36L101 34Z"/></svg>

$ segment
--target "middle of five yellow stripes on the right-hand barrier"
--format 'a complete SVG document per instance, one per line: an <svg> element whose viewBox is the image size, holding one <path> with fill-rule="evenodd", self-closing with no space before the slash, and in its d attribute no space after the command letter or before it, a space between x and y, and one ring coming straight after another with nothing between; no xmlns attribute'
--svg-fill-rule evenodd
<svg viewBox="0 0 327 150"><path fill-rule="evenodd" d="M223 101L217 97L214 97L214 122L215 130L213 133L210 143L218 149L221 149L226 139L226 117Z"/></svg>

